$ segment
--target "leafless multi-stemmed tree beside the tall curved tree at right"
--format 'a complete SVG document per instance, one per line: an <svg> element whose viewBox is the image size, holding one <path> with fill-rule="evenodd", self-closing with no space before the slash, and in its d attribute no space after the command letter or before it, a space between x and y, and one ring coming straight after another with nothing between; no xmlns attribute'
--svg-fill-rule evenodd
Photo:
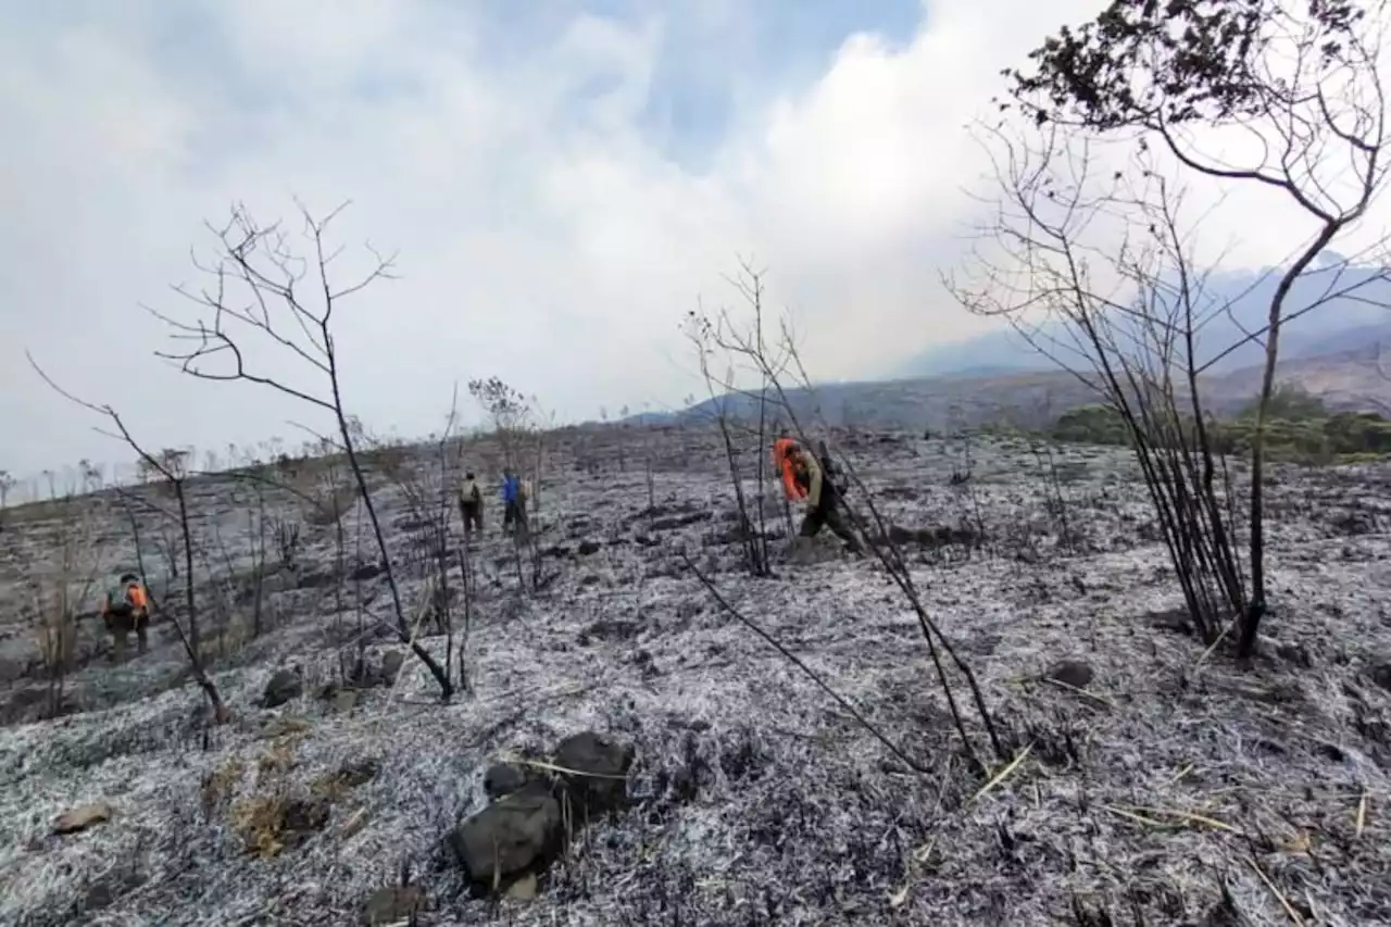
<svg viewBox="0 0 1391 927"><path fill-rule="evenodd" d="M1193 270L1182 199L1163 178L1141 167L1136 191L1111 171L1096 191L1086 150L1052 173L1052 146L1066 139L1052 128L1043 138L1038 149L1002 142L996 182L1007 193L982 230L999 245L949 287L971 312L1011 322L1125 423L1189 615L1210 642L1249 601L1227 468L1198 388L1198 335L1224 306ZM1136 227L1102 273L1104 251L1084 231L1127 210Z"/></svg>

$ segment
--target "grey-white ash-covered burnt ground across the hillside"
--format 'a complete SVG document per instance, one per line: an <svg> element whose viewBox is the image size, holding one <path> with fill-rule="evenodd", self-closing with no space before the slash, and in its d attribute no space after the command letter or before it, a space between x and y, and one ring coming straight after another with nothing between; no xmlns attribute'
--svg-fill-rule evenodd
<svg viewBox="0 0 1391 927"><path fill-rule="evenodd" d="M833 540L794 562L776 540L776 576L748 578L718 447L676 431L565 438L542 487L537 543L558 576L541 592L519 593L491 496L473 692L449 704L409 657L394 686L319 697L353 650L357 590L370 618L389 625L391 610L380 573L349 564L363 579L341 612L337 583L319 579L334 529L306 525L299 575L267 580L264 632L227 631L209 650L230 724L209 727L168 621L117 667L83 622L61 714L36 720L47 689L24 571L56 528L0 533L0 923L352 924L403 880L421 924L1391 923L1391 469L1277 469L1273 639L1239 667L1185 632L1124 452L1053 448L1049 466L1021 441L976 440L960 482L957 441L842 436L878 505L914 532L924 604L974 668L1008 757L1027 750L978 796L989 777L964 759L885 571ZM403 497L374 482L403 547ZM193 493L200 548L218 537L232 551L200 576L204 635L248 610L248 498ZM295 518L289 497L275 505ZM103 555L128 565L108 508ZM780 529L780 501L768 512ZM677 551L931 772L725 612ZM419 580L402 585L413 608ZM444 658L442 637L423 643ZM391 650L403 649L373 633L371 660ZM1061 660L1091 667L1085 690L1040 679ZM291 665L303 693L259 707ZM968 724L999 772L1008 757L989 754L970 711ZM632 745L632 805L577 830L534 898L472 898L442 843L487 803L484 771L581 731ZM327 817L249 848L257 810L295 796ZM110 820L53 832L89 803Z"/></svg>

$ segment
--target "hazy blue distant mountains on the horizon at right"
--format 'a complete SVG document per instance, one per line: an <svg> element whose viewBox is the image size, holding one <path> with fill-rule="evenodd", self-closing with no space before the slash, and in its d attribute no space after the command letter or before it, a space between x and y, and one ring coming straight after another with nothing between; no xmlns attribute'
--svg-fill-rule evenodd
<svg viewBox="0 0 1391 927"><path fill-rule="evenodd" d="M1205 291L1227 310L1209 319L1196 337L1203 398L1216 415L1230 415L1260 388L1264 338L1245 340L1266 324L1278 280L1274 273L1214 273ZM1391 413L1391 280L1380 267L1348 267L1337 255L1295 281L1285 315L1298 313L1342 292L1281 326L1277 379L1292 381L1324 399L1335 412ZM1117 323L1124 330L1127 320ZM1075 344L1053 323L1045 338ZM1245 341L1244 341L1245 340ZM1238 345L1238 342L1241 342ZM1230 349L1232 345L1238 345ZM1378 360L1383 349L1385 362ZM789 393L800 418L819 411L830 425L864 425L942 430L1010 422L1040 427L1063 412L1097 399L1085 384L1042 355L1013 328L939 344L886 372L886 379L822 384L807 394ZM726 397L729 411L757 411L747 397ZM644 412L625 419L655 425L714 415L716 401L677 412Z"/></svg>

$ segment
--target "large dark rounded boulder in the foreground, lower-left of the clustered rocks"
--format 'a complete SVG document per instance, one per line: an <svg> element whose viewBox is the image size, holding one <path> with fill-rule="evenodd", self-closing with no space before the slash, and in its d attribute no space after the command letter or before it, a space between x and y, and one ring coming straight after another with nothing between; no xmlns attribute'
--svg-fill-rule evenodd
<svg viewBox="0 0 1391 927"><path fill-rule="evenodd" d="M563 839L561 803L541 782L494 802L449 832L449 848L484 891L542 870Z"/></svg>

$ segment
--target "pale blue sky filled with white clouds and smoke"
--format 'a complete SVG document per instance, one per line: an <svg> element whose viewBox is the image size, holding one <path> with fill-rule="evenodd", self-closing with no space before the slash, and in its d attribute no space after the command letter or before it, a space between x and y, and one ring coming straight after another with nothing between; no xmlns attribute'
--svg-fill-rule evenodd
<svg viewBox="0 0 1391 927"><path fill-rule="evenodd" d="M698 394L679 327L766 270L818 379L982 331L942 287L981 209L965 125L1082 0L0 0L0 469L327 431L321 409L189 377L150 312L209 277L243 203L324 214L348 409L421 436L498 376L558 420ZM1267 223L1241 216L1248 245ZM1259 264L1271 248L1242 255ZM306 252L307 253L307 252ZM1239 255L1241 256L1241 255ZM323 391L264 341L255 372Z"/></svg>

